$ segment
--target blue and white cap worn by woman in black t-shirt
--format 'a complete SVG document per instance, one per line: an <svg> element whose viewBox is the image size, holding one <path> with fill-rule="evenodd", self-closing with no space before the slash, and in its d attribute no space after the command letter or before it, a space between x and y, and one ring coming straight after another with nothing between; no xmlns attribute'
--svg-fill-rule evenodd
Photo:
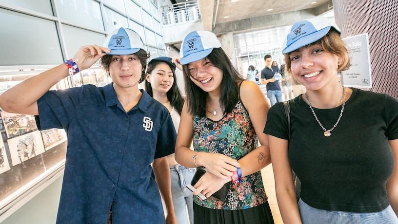
<svg viewBox="0 0 398 224"><path fill-rule="evenodd" d="M332 27L340 34L340 29L337 24L331 19L324 17L316 17L296 22L293 24L290 33L284 41L282 53L290 53L300 47L314 43L324 37Z"/></svg>

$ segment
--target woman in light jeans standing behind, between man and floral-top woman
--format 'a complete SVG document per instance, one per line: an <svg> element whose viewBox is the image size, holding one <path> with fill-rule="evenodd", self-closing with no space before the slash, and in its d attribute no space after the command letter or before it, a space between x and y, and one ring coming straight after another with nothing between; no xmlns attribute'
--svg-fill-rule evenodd
<svg viewBox="0 0 398 224"><path fill-rule="evenodd" d="M174 127L178 131L184 99L177 86L175 71L176 64L172 62L171 57L153 58L148 62L145 90L167 108ZM170 166L171 194L177 221L179 224L188 224L188 221L193 224L192 191L186 185L191 183L196 168L186 168L179 165L174 158L174 153L167 156L167 162ZM188 214L185 207L188 208Z"/></svg>

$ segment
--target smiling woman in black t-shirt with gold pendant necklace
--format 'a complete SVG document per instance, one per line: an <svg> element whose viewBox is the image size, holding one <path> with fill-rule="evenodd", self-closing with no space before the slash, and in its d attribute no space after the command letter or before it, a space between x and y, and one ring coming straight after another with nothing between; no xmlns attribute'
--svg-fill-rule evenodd
<svg viewBox="0 0 398 224"><path fill-rule="evenodd" d="M272 107L268 134L284 223L398 223L398 101L344 88L350 67L336 24L315 18L287 36L286 70L307 93ZM291 168L301 180L296 202Z"/></svg>

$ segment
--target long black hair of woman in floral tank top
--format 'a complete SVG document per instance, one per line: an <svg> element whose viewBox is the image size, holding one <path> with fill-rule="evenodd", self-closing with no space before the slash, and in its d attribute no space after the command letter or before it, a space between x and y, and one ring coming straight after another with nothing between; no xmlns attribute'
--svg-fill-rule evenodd
<svg viewBox="0 0 398 224"><path fill-rule="evenodd" d="M243 78L232 65L229 57L221 48L214 48L213 51L205 58L210 61L213 66L222 71L221 91L220 91L220 108L222 112L231 112L239 100L239 83ZM193 116L205 116L206 99L208 93L200 89L190 77L188 64L183 65L185 92L187 95L187 109Z"/></svg>

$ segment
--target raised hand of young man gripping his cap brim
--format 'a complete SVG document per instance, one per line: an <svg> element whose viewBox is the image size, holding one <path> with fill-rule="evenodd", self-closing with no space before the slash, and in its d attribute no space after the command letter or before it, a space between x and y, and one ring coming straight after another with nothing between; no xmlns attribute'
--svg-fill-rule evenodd
<svg viewBox="0 0 398 224"><path fill-rule="evenodd" d="M110 52L109 48L99 47L97 45L86 45L80 47L79 51L73 56L73 61L79 67L79 70L90 68L102 56ZM78 60L79 59L79 60Z"/></svg>

